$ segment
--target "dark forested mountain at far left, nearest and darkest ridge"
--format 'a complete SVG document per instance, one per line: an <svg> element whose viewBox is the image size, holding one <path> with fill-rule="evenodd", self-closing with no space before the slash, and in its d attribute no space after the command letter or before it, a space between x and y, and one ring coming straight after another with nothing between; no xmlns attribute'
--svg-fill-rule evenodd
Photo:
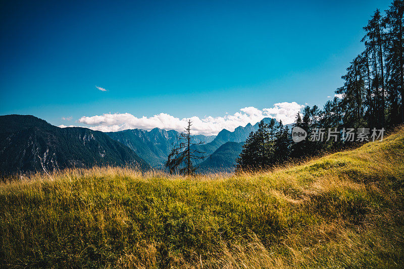
<svg viewBox="0 0 404 269"><path fill-rule="evenodd" d="M87 128L59 128L30 115L0 116L0 175L69 167L150 166L108 135Z"/></svg>

